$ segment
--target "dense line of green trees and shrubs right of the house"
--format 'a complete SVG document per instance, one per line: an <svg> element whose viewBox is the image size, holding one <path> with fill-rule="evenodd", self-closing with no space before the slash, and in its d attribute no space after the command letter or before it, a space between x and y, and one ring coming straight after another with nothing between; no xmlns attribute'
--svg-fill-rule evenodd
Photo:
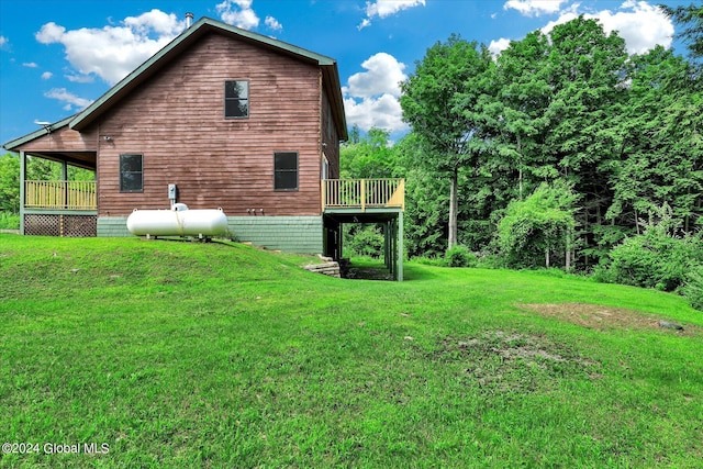
<svg viewBox="0 0 703 469"><path fill-rule="evenodd" d="M702 9L690 9L695 45ZM509 267L591 271L650 226L701 235L698 57L693 46L689 58L661 46L629 55L582 16L496 57L451 35L401 83L411 132L389 146L384 131L353 130L342 171L406 178L411 257L465 245Z"/></svg>

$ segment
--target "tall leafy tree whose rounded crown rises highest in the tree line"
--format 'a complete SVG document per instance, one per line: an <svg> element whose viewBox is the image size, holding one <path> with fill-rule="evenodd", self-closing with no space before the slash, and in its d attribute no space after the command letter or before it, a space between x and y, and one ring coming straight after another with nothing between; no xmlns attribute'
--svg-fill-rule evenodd
<svg viewBox="0 0 703 469"><path fill-rule="evenodd" d="M578 224L581 264L593 260L602 243L599 227L612 201L609 163L620 157L613 129L626 100L627 53L615 32L605 34L583 18L555 26L550 33L550 85L555 89L546 116L550 131L544 150L560 177L582 197Z"/></svg>

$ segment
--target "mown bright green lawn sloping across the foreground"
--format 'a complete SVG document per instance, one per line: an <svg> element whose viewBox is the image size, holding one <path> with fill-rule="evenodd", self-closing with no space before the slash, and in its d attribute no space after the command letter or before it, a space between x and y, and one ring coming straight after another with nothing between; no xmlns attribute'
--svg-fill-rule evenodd
<svg viewBox="0 0 703 469"><path fill-rule="evenodd" d="M0 466L703 459L703 315L682 298L413 263L402 283L339 280L308 261L0 235L0 443L40 445Z"/></svg>

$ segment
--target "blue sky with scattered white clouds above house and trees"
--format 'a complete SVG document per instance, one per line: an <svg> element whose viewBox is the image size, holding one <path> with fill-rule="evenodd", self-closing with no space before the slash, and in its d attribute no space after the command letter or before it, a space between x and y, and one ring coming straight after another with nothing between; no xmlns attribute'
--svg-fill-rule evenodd
<svg viewBox="0 0 703 469"><path fill-rule="evenodd" d="M457 33L500 53L510 40L579 14L617 30L633 53L674 46L674 25L635 0L1 0L0 144L98 99L183 31L209 16L337 60L347 122L399 137L398 82L427 47Z"/></svg>

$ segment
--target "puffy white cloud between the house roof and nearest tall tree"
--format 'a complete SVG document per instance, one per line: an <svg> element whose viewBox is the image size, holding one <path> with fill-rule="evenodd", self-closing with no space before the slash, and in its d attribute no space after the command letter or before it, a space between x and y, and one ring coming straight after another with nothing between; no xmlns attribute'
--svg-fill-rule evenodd
<svg viewBox="0 0 703 469"><path fill-rule="evenodd" d="M367 71L354 74L342 88L347 122L362 131L371 127L405 131L402 121L400 82L408 76L405 65L387 53L378 53L361 64Z"/></svg>

